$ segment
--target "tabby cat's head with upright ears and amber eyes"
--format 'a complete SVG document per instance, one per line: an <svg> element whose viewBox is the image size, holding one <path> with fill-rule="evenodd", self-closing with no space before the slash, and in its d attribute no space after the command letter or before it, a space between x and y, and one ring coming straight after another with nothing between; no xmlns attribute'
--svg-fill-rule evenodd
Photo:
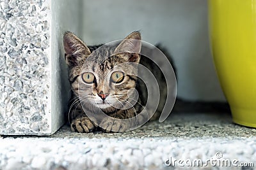
<svg viewBox="0 0 256 170"><path fill-rule="evenodd" d="M83 103L106 109L122 108L128 102L136 87L140 40L140 32L136 31L118 45L103 45L95 50L71 32L65 33L70 83Z"/></svg>

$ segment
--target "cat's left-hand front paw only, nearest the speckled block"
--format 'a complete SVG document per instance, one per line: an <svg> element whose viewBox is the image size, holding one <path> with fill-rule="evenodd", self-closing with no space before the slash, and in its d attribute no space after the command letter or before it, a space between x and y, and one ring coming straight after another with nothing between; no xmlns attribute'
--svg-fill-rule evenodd
<svg viewBox="0 0 256 170"><path fill-rule="evenodd" d="M89 133L95 131L96 127L88 117L77 117L72 120L71 131Z"/></svg>

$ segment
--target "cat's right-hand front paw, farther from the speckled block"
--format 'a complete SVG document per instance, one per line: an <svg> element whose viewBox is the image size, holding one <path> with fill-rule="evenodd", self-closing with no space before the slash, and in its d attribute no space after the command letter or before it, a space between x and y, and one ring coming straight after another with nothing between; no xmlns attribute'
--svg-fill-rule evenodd
<svg viewBox="0 0 256 170"><path fill-rule="evenodd" d="M125 121L115 121L110 118L102 120L100 127L103 132L124 132L129 128L129 124Z"/></svg>

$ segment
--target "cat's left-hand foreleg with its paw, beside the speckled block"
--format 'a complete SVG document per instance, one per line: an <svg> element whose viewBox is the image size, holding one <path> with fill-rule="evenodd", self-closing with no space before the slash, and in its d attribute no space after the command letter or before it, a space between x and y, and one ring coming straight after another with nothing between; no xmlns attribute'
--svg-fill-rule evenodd
<svg viewBox="0 0 256 170"><path fill-rule="evenodd" d="M97 125L93 124L92 120L85 115L83 109L77 108L72 112L74 116L71 118L71 131L88 133L97 129Z"/></svg>

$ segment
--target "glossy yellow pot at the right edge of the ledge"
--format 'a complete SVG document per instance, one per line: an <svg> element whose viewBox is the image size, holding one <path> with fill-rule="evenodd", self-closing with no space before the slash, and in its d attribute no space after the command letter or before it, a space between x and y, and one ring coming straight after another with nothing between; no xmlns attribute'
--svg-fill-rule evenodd
<svg viewBox="0 0 256 170"><path fill-rule="evenodd" d="M256 127L256 0L209 0L209 34L236 124Z"/></svg>

